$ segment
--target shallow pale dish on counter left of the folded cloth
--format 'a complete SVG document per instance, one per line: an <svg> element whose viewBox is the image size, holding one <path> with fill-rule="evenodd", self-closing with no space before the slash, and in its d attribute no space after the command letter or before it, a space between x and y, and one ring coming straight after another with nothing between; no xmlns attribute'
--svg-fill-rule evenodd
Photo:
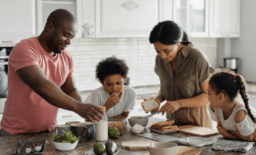
<svg viewBox="0 0 256 155"><path fill-rule="evenodd" d="M211 145L213 143L213 139L203 138L200 136L190 136L187 139L179 139L179 143L193 147L202 147L205 145Z"/></svg>

